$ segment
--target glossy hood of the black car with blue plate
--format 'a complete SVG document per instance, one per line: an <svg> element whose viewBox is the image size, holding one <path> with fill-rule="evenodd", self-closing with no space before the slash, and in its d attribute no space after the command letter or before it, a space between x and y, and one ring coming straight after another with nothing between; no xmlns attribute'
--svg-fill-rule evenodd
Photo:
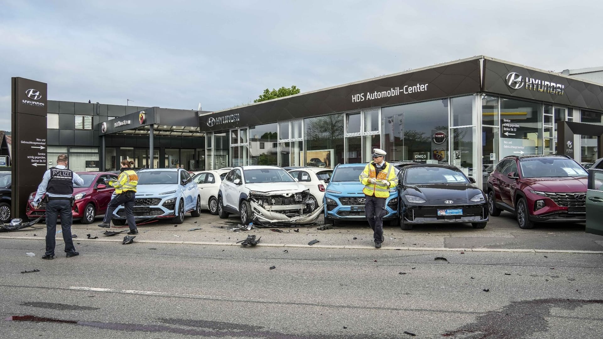
<svg viewBox="0 0 603 339"><path fill-rule="evenodd" d="M466 201L483 193L470 183L438 183L429 185L407 185L404 194L416 195L425 200L461 200Z"/></svg>

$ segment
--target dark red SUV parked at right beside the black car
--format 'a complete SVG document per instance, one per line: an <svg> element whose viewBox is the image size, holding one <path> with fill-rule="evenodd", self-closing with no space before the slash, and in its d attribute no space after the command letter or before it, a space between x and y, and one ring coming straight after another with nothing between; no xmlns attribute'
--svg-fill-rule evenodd
<svg viewBox="0 0 603 339"><path fill-rule="evenodd" d="M564 155L508 156L488 177L490 215L514 213L522 229L537 222L584 223L587 173Z"/></svg>

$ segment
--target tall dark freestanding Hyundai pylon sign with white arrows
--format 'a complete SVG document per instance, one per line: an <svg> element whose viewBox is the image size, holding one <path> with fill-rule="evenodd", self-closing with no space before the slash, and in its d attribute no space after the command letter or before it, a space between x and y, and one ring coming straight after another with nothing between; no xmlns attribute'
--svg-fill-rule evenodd
<svg viewBox="0 0 603 339"><path fill-rule="evenodd" d="M20 77L12 79L13 133L13 218L26 218L25 206L30 192L36 191L46 171L46 83Z"/></svg>

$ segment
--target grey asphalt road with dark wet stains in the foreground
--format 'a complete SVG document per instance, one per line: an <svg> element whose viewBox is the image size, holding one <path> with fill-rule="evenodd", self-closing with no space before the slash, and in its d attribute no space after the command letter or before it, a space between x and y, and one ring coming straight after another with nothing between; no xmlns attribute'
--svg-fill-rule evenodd
<svg viewBox="0 0 603 339"><path fill-rule="evenodd" d="M0 239L2 338L603 337L600 254L40 240Z"/></svg>

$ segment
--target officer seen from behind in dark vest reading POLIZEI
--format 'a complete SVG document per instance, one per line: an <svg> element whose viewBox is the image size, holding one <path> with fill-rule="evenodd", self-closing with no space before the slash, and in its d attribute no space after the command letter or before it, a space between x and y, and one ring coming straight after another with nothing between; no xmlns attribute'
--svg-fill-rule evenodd
<svg viewBox="0 0 603 339"><path fill-rule="evenodd" d="M57 231L57 217L61 215L61 229L63 230L63 241L65 241L65 253L67 258L80 255L75 251L74 241L71 238L71 213L72 195L75 185L83 186L84 180L77 173L67 168L68 157L60 154L57 157L57 166L49 168L38 186L34 206L36 209L42 201L42 195L46 193L46 253L42 259L54 259L54 239Z"/></svg>

